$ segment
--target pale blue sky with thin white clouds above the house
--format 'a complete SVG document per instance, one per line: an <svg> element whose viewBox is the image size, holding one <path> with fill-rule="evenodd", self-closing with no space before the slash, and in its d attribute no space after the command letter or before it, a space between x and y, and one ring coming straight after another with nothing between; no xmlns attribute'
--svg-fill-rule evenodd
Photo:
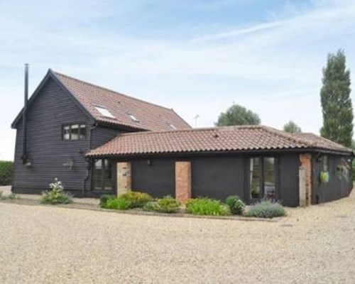
<svg viewBox="0 0 355 284"><path fill-rule="evenodd" d="M0 160L13 159L11 121L48 68L173 107L213 126L234 102L263 124L322 125L327 54L355 66L355 1L130 0L0 2ZM354 74L352 74L354 81Z"/></svg>

